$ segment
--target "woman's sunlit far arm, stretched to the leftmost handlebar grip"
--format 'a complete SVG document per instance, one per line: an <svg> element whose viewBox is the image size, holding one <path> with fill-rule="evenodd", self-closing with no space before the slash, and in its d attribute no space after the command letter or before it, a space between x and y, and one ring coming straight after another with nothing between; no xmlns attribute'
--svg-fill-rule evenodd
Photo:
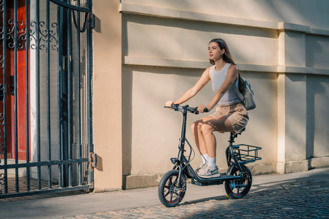
<svg viewBox="0 0 329 219"><path fill-rule="evenodd" d="M210 81L209 68L207 68L206 70L204 70L204 73L202 73L202 76L200 77L199 81L197 81L197 83L195 83L195 85L193 86L193 88L191 88L188 91L186 91L180 97L180 99L178 99L177 101L175 101L174 102L175 104L185 103L186 101L188 101L189 99L191 99L193 96L195 96L195 94L197 94L197 92L199 92L202 88L204 88L204 86L206 86L206 84L208 83L208 81ZM173 103L173 101L167 101L166 102L166 105L167 106L171 106L172 103Z"/></svg>

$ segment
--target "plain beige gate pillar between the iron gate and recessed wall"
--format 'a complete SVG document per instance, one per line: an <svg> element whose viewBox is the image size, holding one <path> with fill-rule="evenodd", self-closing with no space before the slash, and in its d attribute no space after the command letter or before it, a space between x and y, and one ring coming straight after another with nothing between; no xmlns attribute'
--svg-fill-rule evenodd
<svg viewBox="0 0 329 219"><path fill-rule="evenodd" d="M95 190L121 188L121 14L117 1L94 1L93 141Z"/></svg>

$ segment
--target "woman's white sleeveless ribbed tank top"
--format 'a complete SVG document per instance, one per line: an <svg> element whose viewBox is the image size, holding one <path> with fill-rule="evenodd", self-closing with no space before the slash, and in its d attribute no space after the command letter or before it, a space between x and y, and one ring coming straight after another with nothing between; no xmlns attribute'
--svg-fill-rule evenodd
<svg viewBox="0 0 329 219"><path fill-rule="evenodd" d="M231 64L226 63L226 65L223 67L223 69L217 71L215 70L215 65L210 67L209 70L209 77L212 81L212 90L214 92L217 92L221 85L224 83L226 79L226 74L228 73L228 68L230 68ZM237 81L234 81L232 86L221 96L221 99L219 99L218 104L219 105L231 105L233 103L239 103L241 99L236 94L233 86L236 86L236 88L239 89L239 79Z"/></svg>

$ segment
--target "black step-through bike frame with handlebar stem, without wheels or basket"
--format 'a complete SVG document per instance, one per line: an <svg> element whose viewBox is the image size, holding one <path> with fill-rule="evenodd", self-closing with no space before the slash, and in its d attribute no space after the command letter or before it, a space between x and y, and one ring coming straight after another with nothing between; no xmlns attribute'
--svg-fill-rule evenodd
<svg viewBox="0 0 329 219"><path fill-rule="evenodd" d="M221 176L221 177L214 177L214 178L209 178L209 179L205 179L205 178L199 177L199 175L197 175L195 170L190 165L189 160L186 159L186 157L184 155L185 142L187 142L188 146L190 146L190 148L191 148L191 144L186 139L186 119L187 119L187 112L188 112L187 109L188 109L188 106L179 107L179 109L178 109L183 114L182 134L181 134L180 143L179 143L179 146L178 146L178 149L179 149L178 157L177 158L171 158L171 162L173 164L175 164L173 169L178 168L178 170L179 170L178 185L180 185L180 181L181 181L181 177L183 175L184 169L186 169L186 175L188 177L191 177L191 178L195 179L199 183L212 183L212 182L222 183L223 181L226 181L226 180L241 179L243 177L243 175L242 175L243 170L242 170L241 164L238 162L238 160L236 159L236 156L233 153L234 149L239 148L239 146L238 145L233 145L234 138L236 138L236 135L234 135L232 133L231 133L230 141L229 141L230 145L226 149L226 160L228 162L228 168L232 165L239 168L240 175L239 176L224 175L224 176ZM178 110L176 110L176 111L178 111ZM190 157L191 157L191 153L190 153ZM233 159L233 162L231 162L231 159Z"/></svg>

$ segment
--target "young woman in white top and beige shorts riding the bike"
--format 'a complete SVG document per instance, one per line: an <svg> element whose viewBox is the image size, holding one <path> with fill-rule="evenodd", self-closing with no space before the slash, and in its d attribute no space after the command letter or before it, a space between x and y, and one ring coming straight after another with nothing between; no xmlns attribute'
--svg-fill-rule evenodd
<svg viewBox="0 0 329 219"><path fill-rule="evenodd" d="M196 120L191 127L195 144L203 160L203 164L197 168L197 174L204 178L220 175L216 166L216 138L212 132L236 133L241 131L249 120L245 106L232 87L236 86L239 89L241 80L239 68L232 60L228 45L223 39L215 38L208 44L208 55L212 66L204 70L195 86L187 90L177 101L166 102L166 106L180 105L195 96L208 81L212 81L215 96L207 106L198 105L197 110L203 113L205 108L210 111L217 103L219 106L216 107L216 112Z"/></svg>

